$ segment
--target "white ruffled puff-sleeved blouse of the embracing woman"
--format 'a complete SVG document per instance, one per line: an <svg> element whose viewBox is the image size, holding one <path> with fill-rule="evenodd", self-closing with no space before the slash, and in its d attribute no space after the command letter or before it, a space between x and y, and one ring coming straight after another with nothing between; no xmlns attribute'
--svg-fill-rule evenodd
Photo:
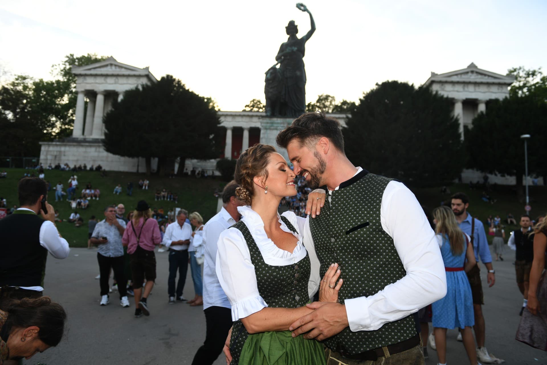
<svg viewBox="0 0 547 365"><path fill-rule="evenodd" d="M305 218L296 217L293 212L282 215L294 226L298 233L293 233L279 217L281 229L292 233L298 242L293 252L281 250L270 240L264 230L264 222L250 206L238 207L241 220L245 222L256 242L264 262L272 266L286 266L299 262L306 257L306 248L302 243ZM237 228L226 229L218 240L216 271L220 286L226 293L232 306L232 320L237 321L267 307L260 296L257 286L257 275L251 261L251 253L245 237ZM309 285L309 296L315 294L316 285Z"/></svg>

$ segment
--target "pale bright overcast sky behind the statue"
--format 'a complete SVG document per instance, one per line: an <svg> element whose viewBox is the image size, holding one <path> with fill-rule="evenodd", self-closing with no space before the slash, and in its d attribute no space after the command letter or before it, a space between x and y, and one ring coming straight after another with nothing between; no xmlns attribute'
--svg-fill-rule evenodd
<svg viewBox="0 0 547 365"><path fill-rule="evenodd" d="M309 16L294 0L0 0L0 71L51 78L67 54L114 56L172 74L224 111L264 100L285 26ZM357 101L385 80L424 83L430 72L479 68L501 74L546 66L546 1L315 0L306 43L306 102L318 94ZM0 72L1 74L1 72ZM3 77L3 81L6 77Z"/></svg>

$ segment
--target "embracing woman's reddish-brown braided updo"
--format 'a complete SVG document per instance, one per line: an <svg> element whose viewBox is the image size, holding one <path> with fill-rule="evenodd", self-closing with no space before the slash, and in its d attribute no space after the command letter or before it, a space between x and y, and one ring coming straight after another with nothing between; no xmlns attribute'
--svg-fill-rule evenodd
<svg viewBox="0 0 547 365"><path fill-rule="evenodd" d="M276 152L273 146L269 144L257 143L253 147L249 147L237 159L236 171L234 179L240 186L236 189L237 198L251 205L254 194L255 176L265 176L268 172L266 166L270 161L270 154Z"/></svg>

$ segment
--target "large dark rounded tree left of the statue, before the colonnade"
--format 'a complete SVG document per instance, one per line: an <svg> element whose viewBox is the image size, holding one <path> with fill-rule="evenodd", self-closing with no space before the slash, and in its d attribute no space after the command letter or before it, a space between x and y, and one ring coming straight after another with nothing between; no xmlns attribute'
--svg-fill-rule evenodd
<svg viewBox="0 0 547 365"><path fill-rule="evenodd" d="M104 117L104 148L113 154L146 159L159 158L158 173L173 168L180 157L179 172L187 158L218 158L220 120L211 98L190 91L170 75L158 83L125 91L120 102Z"/></svg>

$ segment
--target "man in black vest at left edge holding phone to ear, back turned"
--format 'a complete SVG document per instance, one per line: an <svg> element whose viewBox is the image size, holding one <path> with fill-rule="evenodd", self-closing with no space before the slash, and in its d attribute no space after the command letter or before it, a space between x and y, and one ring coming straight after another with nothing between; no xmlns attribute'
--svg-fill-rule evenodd
<svg viewBox="0 0 547 365"><path fill-rule="evenodd" d="M18 191L20 208L0 219L0 296L36 298L44 291L48 252L55 258L66 258L68 242L55 227L54 208L46 202L45 181L22 178Z"/></svg>

